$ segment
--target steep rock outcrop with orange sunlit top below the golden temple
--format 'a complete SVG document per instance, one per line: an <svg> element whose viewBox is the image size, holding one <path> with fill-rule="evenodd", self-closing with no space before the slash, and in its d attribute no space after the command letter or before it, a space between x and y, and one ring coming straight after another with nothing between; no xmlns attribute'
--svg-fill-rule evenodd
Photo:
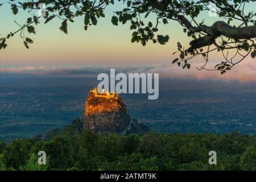
<svg viewBox="0 0 256 182"><path fill-rule="evenodd" d="M130 123L125 102L119 97L101 97L91 91L86 98L84 129L121 132Z"/></svg>

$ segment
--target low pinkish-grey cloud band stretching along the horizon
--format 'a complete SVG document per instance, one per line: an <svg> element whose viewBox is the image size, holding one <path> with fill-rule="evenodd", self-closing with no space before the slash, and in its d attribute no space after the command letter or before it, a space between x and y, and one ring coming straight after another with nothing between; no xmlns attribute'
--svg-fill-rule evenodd
<svg viewBox="0 0 256 182"><path fill-rule="evenodd" d="M209 68L214 68L216 63L209 63ZM242 63L236 65L231 71L221 75L218 71L197 70L202 63L191 62L191 69L182 69L177 64L168 62L162 65L147 65L146 67L137 65L115 65L100 67L88 65L85 67L0 67L1 75L8 74L26 74L41 76L71 76L71 77L97 77L99 73L109 73L110 68L115 68L116 72L122 73L159 73L160 78L171 79L194 79L194 80L238 80L238 81L256 81L256 62L251 58L245 59Z"/></svg>

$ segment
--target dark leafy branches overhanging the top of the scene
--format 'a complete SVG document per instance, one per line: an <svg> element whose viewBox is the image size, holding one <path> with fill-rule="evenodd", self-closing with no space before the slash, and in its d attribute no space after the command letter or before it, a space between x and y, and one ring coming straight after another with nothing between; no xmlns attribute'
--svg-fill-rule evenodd
<svg viewBox="0 0 256 182"><path fill-rule="evenodd" d="M148 42L166 44L171 36L158 34L159 24L171 24L177 22L184 29L184 33L191 38L189 46L183 47L177 43L179 56L172 61L179 67L190 68L191 59L203 56L205 64L198 69L220 71L221 74L241 63L247 56L256 56L256 19L253 9L255 0L118 0L125 4L125 8L117 10L112 16L111 22L118 24L130 24L132 33L131 42L141 43L146 46ZM97 26L98 19L105 17L105 10L114 0L6 0L0 4L9 4L14 15L19 11L27 11L29 17L20 25L18 30L12 31L6 36L0 37L0 49L7 47L7 40L15 34L20 34L24 46L29 48L33 40L28 34L35 34L36 24L48 23L53 18L61 20L60 30L68 34L68 24L73 23L76 17L84 18L85 31L90 26ZM46 5L45 14L34 14L32 11L42 10ZM254 6L253 6L254 5ZM214 7L214 8L212 8ZM249 9L249 11L247 10ZM200 21L202 13L208 11L220 17L220 21L208 25ZM151 22L148 15L153 14L155 21ZM208 68L210 52L218 51L223 55L214 68ZM175 54L174 53L174 54Z"/></svg>

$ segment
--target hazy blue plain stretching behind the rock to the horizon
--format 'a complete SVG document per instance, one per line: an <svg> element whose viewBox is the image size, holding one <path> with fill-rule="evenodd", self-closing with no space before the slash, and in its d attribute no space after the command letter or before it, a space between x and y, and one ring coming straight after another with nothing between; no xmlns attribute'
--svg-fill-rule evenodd
<svg viewBox="0 0 256 182"><path fill-rule="evenodd" d="M97 78L0 77L0 140L28 138L82 117ZM160 80L159 99L121 94L132 119L158 133L256 134L254 82Z"/></svg>

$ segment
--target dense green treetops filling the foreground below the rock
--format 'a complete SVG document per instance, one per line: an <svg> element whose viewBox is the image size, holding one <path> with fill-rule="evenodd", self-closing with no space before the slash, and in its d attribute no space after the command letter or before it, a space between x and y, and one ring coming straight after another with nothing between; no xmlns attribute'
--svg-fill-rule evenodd
<svg viewBox="0 0 256 182"><path fill-rule="evenodd" d="M0 143L1 170L255 170L256 136L230 133L119 136L77 131L79 122L51 139ZM55 130L52 130L53 136ZM56 130L59 133L59 130ZM48 133L49 134L49 133ZM39 165L38 151L46 151ZM209 165L209 151L217 165Z"/></svg>

